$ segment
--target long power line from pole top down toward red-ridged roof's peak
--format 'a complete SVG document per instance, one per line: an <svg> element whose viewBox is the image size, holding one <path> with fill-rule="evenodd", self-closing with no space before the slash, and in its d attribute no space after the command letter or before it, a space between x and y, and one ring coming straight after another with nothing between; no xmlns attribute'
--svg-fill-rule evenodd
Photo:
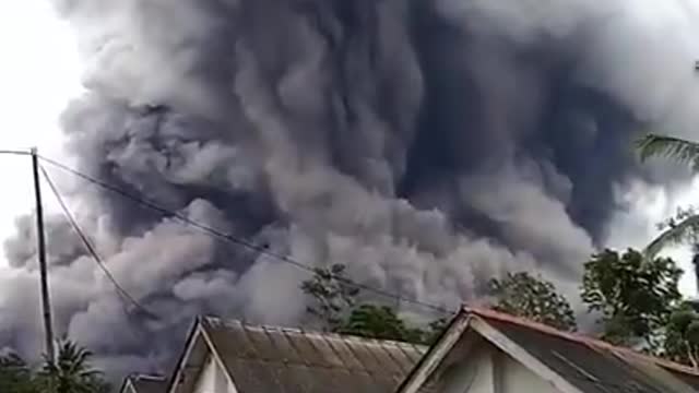
<svg viewBox="0 0 699 393"><path fill-rule="evenodd" d="M67 166L64 164L61 164L61 163L59 163L59 162L57 162L55 159L51 159L51 158L48 158L48 157L45 157L45 156L39 156L39 158L42 160L44 160L45 163L48 163L48 164L50 164L50 165L52 165L52 166L55 166L55 167L57 167L59 169L62 169L64 171L68 171L70 174L76 176L76 177L80 177L83 180L86 180L86 181L92 182L94 184L97 184L97 186L99 186L99 187L102 187L102 188L104 188L106 190L109 190L109 191L111 191L114 193L117 193L117 194L121 195L125 199L131 200L131 201L133 201L133 202L135 202L135 203L138 203L138 204L140 204L142 206L145 206L147 209L156 211L156 212L158 212L161 214L164 214L164 215L167 215L167 216L171 216L171 217L176 218L177 221L179 221L179 222L181 222L183 224L190 225L190 226L192 226L192 227L194 227L194 228L197 228L197 229L199 229L199 230L201 230L201 231L203 231L203 233L205 233L205 234L208 234L208 235L210 235L212 237L215 237L215 238L218 238L221 240L225 240L225 241L232 242L232 243L234 243L236 246L240 246L240 247L247 248L247 249L256 251L256 252L258 252L260 254L271 257L271 258L273 258L275 260L279 260L281 262L294 265L294 266L296 266L296 267L298 267L300 270L307 271L309 273L316 273L316 269L307 265L306 263L299 262L299 261L297 261L295 259L292 259L291 257L287 257L287 255L280 254L280 253L276 253L274 251L271 251L265 246L254 245L254 243L252 243L252 242L250 242L248 240L238 238L236 236L233 236L233 235L229 235L229 234L224 234L224 233L222 233L222 231L220 231L220 230L217 230L215 228L212 228L212 227L210 227L208 225L198 223L198 222L196 222L196 221L193 221L193 219L191 219L191 218L189 218L189 217L187 217L187 216L185 216L185 215L182 215L180 213L174 212L174 211L171 211L171 210L169 210L167 207L163 207L162 205L157 204L156 202L153 202L151 200L144 199L144 198L139 196L139 195L134 195L134 194L132 194L132 193L130 193L128 191L122 190L119 187L116 187L116 186L110 184L110 183L108 183L106 181L96 179L96 178L94 178L94 177L92 177L90 175L85 175L85 174L83 174L83 172L81 172L81 171L79 171L76 169L73 169L73 168L71 168L71 167L69 167L69 166ZM347 278L347 277L333 275L333 278L335 278L339 282L345 283L347 285L352 285L352 286L354 286L356 288L360 288L360 289L374 293L376 295L380 295L382 297L387 297L387 298L391 298L391 299L398 299L398 300L401 300L401 301L404 301L404 302L407 302L407 303L412 303L412 305L415 305L415 306L420 306L420 307L428 308L428 309L431 309L434 311L439 311L439 312L442 312L442 313L446 313L446 314L452 314L453 313L452 311L447 310L443 307L440 307L440 306L437 306L437 305L433 305L433 303L428 303L428 302L424 302L424 301L419 301L419 300L412 299L412 298L398 296L398 295L395 295L393 293L390 293L388 290L383 290L383 289L375 288L375 287L366 285L366 284L357 283L357 282L355 282L355 281L353 281L351 278Z"/></svg>

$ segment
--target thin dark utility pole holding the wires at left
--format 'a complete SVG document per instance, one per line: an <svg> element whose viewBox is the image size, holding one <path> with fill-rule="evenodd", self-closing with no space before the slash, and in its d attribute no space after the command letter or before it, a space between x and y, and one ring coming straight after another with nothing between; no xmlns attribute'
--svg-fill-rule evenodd
<svg viewBox="0 0 699 393"><path fill-rule="evenodd" d="M46 334L46 357L52 364L56 360L54 350L54 325L51 320L51 302L48 290L48 269L46 266L46 239L44 238L44 209L42 205L42 187L39 182L39 163L36 147L32 148L32 171L34 174L34 195L36 196L36 240L42 283L42 308L44 312L44 333Z"/></svg>

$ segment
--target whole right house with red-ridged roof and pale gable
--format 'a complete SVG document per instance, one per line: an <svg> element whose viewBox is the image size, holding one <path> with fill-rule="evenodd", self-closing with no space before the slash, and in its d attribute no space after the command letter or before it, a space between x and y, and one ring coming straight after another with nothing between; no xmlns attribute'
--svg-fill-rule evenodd
<svg viewBox="0 0 699 393"><path fill-rule="evenodd" d="M489 310L463 309L402 382L459 393L679 393L697 370Z"/></svg>

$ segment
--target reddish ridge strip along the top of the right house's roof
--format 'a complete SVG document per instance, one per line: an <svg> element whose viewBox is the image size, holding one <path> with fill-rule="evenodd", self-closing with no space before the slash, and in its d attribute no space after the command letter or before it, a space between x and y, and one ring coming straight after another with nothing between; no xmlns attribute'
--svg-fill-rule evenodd
<svg viewBox="0 0 699 393"><path fill-rule="evenodd" d="M619 352L619 353L624 353L627 355L631 355L631 356L636 356L639 358L643 358L647 359L649 361L652 361L653 364L661 366L661 367L665 367L668 369L673 369L675 371L679 371L679 372L684 372L687 374L691 374L691 376L698 376L699 377L699 370L696 370L691 367L685 366L685 365L680 365L676 361L672 361L672 360L667 360L667 359L662 359L655 356L650 356L650 355L645 355L645 354L641 354L637 350L633 350L631 348L628 347L624 347L624 346L618 346L618 345L614 345L614 344L609 344L607 342L604 342L602 340L599 338L594 338L588 335L584 335L582 333L573 333L573 332L564 332L560 331L558 329L552 327L549 325L546 325L544 323L541 322L535 322L525 318L520 318L520 317L514 317L511 314L507 314L503 312L499 312L499 311L495 311L491 309L485 309L485 308L475 308L475 307L463 307L463 310L466 313L472 313L475 314L477 317L484 318L484 319L491 319L491 320L497 320L500 322L506 322L506 323L512 323L512 324L517 324L523 327L528 327L528 329L532 329L535 330L540 333L543 334L548 334L548 335L554 335L554 336L558 336L560 338L565 338L568 341L572 341L579 344L583 344L587 346L591 346L591 347L597 347L600 349L607 349L611 352Z"/></svg>

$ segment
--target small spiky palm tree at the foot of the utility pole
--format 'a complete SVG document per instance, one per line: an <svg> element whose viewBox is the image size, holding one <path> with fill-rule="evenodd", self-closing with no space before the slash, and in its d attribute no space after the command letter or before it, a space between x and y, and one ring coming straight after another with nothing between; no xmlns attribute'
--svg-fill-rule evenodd
<svg viewBox="0 0 699 393"><path fill-rule="evenodd" d="M39 384L49 383L56 393L108 393L109 385L100 371L90 362L93 354L78 344L62 340L58 342L55 361L46 359L39 372Z"/></svg>

